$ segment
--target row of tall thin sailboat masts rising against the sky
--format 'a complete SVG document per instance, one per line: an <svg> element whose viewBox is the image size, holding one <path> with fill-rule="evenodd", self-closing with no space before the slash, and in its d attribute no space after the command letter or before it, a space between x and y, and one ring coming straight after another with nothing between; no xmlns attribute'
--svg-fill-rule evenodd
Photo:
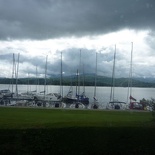
<svg viewBox="0 0 155 155"><path fill-rule="evenodd" d="M127 95L127 103L129 99L129 93L130 96L132 95L132 54L133 54L133 43L131 47L131 62L130 62L130 71L129 71L129 82L128 82L128 95ZM16 79L16 87L15 87L15 94L16 97L18 97L18 71L19 71L19 57L20 54L18 53L17 60L15 58L15 55L13 54L13 69L12 69L12 92L14 90L13 88L13 79ZM44 77L44 98L46 96L47 88L46 88L46 82L47 82L47 61L48 61L48 55L46 55L46 61L45 61L45 77ZM97 53L96 53L96 63L95 63L95 77L94 77L94 102L93 106L97 107L98 106L98 100L97 100ZM111 87L111 93L110 93L110 102L114 102L115 96L115 63L116 63L116 45L115 45L115 50L114 50L114 62L113 62L113 69L112 69L112 87ZM77 69L77 86L76 86L76 96L78 96L78 101L79 101L79 95L80 95L80 83L81 83L81 50L80 50L80 61L79 61L79 68ZM28 75L29 76L29 75ZM38 77L38 70L36 67L36 79ZM29 78L28 78L29 80ZM38 79L37 79L38 80ZM39 81L39 80L38 80ZM37 81L37 84L39 82ZM60 95L63 97L63 64L62 64L62 52L61 52L61 63L60 63ZM84 85L84 65L83 65L83 93L85 94L85 85ZM29 81L28 81L29 83ZM37 84L36 84L36 92L37 92Z"/></svg>

